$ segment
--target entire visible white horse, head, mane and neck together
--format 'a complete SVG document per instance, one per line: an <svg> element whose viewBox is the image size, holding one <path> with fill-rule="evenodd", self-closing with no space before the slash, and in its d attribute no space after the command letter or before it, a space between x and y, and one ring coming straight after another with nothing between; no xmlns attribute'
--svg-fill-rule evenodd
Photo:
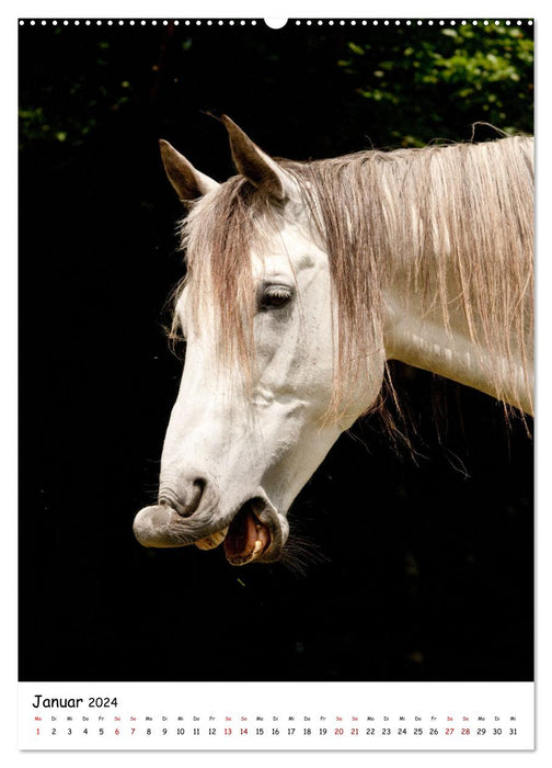
<svg viewBox="0 0 552 768"><path fill-rule="evenodd" d="M186 361L146 546L278 560L287 512L402 360L531 411L532 139L274 160L218 184L166 142Z"/></svg>

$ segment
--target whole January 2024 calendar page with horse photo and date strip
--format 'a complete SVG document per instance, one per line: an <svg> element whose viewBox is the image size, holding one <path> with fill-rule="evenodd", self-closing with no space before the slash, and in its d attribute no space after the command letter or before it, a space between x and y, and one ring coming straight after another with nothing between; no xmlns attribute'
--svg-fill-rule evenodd
<svg viewBox="0 0 552 768"><path fill-rule="evenodd" d="M20 749L533 750L533 20L15 23Z"/></svg>

